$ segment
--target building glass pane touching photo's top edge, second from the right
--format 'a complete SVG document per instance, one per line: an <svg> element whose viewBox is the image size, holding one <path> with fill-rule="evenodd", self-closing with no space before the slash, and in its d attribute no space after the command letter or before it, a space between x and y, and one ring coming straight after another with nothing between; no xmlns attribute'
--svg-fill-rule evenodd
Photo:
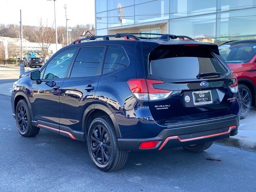
<svg viewBox="0 0 256 192"><path fill-rule="evenodd" d="M170 18L216 12L216 0L170 0Z"/></svg>

